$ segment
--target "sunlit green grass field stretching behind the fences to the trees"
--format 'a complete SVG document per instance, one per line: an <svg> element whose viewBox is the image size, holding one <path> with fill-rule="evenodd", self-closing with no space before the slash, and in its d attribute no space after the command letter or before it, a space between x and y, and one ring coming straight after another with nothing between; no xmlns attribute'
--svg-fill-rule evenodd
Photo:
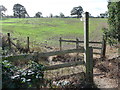
<svg viewBox="0 0 120 90"><path fill-rule="evenodd" d="M53 44L59 37L66 39L83 39L84 23L77 18L9 18L3 19L2 33L11 33L12 37L26 39L30 41L44 42L49 41ZM90 39L101 39L102 28L107 26L107 19L90 18Z"/></svg>

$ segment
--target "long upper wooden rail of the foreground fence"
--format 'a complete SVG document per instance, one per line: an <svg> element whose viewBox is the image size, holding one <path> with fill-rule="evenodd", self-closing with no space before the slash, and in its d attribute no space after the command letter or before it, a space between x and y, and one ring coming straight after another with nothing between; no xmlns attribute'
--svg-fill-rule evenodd
<svg viewBox="0 0 120 90"><path fill-rule="evenodd" d="M33 53L33 54L24 54L24 55L17 55L17 56L6 56L2 57L3 60L10 60L10 61L15 61L15 60L20 60L20 59L34 59L34 57L40 58L40 57L48 57L48 56L54 56L54 55L63 55L67 53L75 53L75 52L80 52L84 53L84 48L81 47L80 49L69 49L69 50L63 50L63 51L54 51L54 52L46 52L46 53Z"/></svg>

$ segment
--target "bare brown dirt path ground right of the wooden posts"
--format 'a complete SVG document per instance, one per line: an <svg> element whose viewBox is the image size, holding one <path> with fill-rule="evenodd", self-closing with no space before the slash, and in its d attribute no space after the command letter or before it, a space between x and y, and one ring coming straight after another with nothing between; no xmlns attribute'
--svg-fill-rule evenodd
<svg viewBox="0 0 120 90"><path fill-rule="evenodd" d="M98 88L118 88L120 73L117 48L107 46L106 58L94 60L94 82Z"/></svg>

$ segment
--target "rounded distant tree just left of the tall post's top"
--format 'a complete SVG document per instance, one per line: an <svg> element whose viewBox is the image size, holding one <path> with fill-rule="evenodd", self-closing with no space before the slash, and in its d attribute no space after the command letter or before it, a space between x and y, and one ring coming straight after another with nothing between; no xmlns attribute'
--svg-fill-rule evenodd
<svg viewBox="0 0 120 90"><path fill-rule="evenodd" d="M81 6L74 7L71 10L71 15L77 15L77 18L81 18L83 13L83 8Z"/></svg>

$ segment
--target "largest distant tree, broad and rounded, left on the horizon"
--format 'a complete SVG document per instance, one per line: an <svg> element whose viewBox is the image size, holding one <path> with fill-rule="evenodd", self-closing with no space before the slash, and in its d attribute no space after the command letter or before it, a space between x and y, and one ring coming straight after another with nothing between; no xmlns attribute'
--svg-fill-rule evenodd
<svg viewBox="0 0 120 90"><path fill-rule="evenodd" d="M22 6L21 4L15 4L13 6L13 12L14 12L14 17L18 17L18 18L25 18L25 16L27 15L27 17L29 17L26 9L24 6Z"/></svg>

